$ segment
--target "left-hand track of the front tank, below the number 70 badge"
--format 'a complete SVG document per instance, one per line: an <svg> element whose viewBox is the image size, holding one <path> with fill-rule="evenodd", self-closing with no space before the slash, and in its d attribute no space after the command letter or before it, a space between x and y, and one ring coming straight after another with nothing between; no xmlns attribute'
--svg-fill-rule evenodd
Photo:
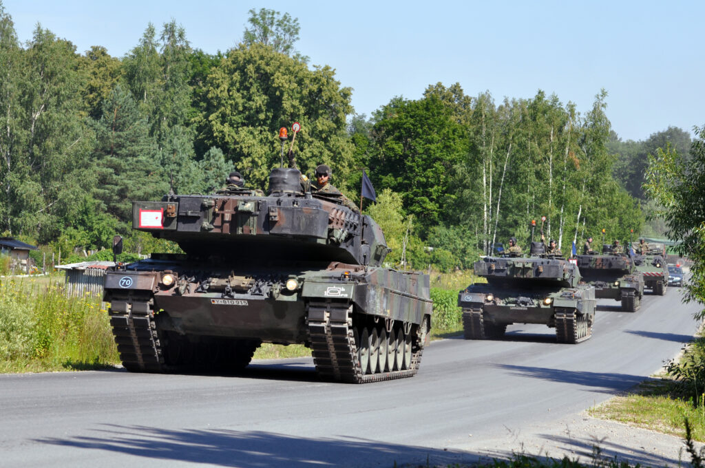
<svg viewBox="0 0 705 468"><path fill-rule="evenodd" d="M108 314L120 360L128 371L164 372L152 298L113 297Z"/></svg>

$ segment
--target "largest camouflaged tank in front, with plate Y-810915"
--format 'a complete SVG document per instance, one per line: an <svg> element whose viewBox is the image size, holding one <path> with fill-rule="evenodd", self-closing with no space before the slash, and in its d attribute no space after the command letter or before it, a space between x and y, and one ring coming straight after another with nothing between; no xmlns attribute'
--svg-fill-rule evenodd
<svg viewBox="0 0 705 468"><path fill-rule="evenodd" d="M311 348L318 374L367 383L417 373L431 326L429 276L381 266L369 216L302 192L275 168L269 193L133 202L133 228L177 242L118 266L104 300L129 371L236 371L263 342Z"/></svg>

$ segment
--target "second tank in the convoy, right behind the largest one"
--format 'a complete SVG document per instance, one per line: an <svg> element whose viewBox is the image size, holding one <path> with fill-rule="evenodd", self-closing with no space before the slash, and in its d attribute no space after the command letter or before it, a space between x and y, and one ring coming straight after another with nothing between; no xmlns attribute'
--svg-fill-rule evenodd
<svg viewBox="0 0 705 468"><path fill-rule="evenodd" d="M525 257L484 257L474 274L487 283L460 291L466 340L501 338L510 324L546 324L556 328L558 343L580 343L592 335L595 288L580 283L575 264L546 255L542 242L532 242Z"/></svg>

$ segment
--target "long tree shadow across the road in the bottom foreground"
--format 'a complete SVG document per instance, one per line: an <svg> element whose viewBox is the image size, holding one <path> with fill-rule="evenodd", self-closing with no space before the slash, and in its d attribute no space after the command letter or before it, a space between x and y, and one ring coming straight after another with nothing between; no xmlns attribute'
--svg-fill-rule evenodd
<svg viewBox="0 0 705 468"><path fill-rule="evenodd" d="M342 426L341 426L342 427ZM206 463L222 467L369 467L422 464L427 460L471 463L470 452L445 451L369 441L362 438L305 438L263 431L172 430L106 425L101 436L47 438L39 443L110 450L154 460Z"/></svg>

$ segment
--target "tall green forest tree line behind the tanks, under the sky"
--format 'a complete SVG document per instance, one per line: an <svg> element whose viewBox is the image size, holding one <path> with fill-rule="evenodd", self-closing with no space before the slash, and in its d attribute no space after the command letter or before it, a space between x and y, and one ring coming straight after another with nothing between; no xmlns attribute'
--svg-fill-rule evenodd
<svg viewBox="0 0 705 468"><path fill-rule="evenodd" d="M604 90L581 112L541 90L496 101L439 82L368 118L331 67L294 49L297 19L262 8L248 24L216 54L174 20L149 24L113 57L39 25L20 44L0 3L0 231L64 252L109 247L116 233L152 249L130 230L132 200L213 192L233 168L266 188L278 128L299 121L302 171L329 164L359 199L367 168L378 197L364 209L395 264L465 268L511 235L527 245L541 216L564 252L602 228L608 240L641 232L642 195L626 176L639 158L619 147Z"/></svg>

